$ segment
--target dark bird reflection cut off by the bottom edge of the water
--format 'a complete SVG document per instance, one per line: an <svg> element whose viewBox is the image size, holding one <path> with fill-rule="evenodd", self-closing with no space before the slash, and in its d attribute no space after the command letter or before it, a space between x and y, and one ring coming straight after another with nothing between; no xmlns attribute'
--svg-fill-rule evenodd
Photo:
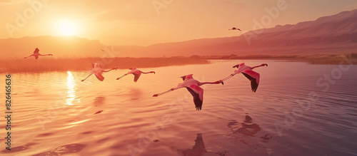
<svg viewBox="0 0 357 156"><path fill-rule="evenodd" d="M178 153L183 156L200 156L200 155L225 155L226 152L207 152L206 147L204 146L202 134L198 133L195 145L193 145L192 149L187 150L178 150Z"/></svg>

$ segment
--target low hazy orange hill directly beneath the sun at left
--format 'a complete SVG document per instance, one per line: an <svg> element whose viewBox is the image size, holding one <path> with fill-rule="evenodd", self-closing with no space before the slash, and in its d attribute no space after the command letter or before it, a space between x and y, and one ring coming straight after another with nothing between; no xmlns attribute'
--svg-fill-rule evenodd
<svg viewBox="0 0 357 156"><path fill-rule="evenodd" d="M22 58L29 56L35 48L41 54L52 53L57 57L103 56L105 46L98 40L88 40L76 36L39 36L0 39L0 58Z"/></svg>

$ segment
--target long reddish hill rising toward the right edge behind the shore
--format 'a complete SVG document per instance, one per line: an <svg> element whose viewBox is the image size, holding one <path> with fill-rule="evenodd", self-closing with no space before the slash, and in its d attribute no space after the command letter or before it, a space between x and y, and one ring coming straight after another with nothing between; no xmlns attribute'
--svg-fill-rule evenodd
<svg viewBox="0 0 357 156"><path fill-rule="evenodd" d="M256 33L260 31L260 33ZM263 28L241 36L159 43L141 48L117 46L122 56L207 56L346 53L357 50L357 9L316 21ZM233 33L239 33L235 31Z"/></svg>

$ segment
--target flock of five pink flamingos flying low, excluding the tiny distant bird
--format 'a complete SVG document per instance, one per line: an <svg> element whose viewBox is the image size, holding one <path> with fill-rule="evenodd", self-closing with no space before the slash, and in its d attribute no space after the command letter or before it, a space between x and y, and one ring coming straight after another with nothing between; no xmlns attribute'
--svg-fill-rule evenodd
<svg viewBox="0 0 357 156"><path fill-rule="evenodd" d="M39 53L39 48L36 48L34 53L31 54L31 56L34 56L36 59L38 59L39 56L52 56L52 54L41 55ZM25 58L29 58L31 56L27 56ZM93 74L94 74L94 76L96 76L96 78L98 78L98 80L103 81L104 76L102 75L102 73L117 69L117 68L111 68L110 70L105 71L104 69L102 69L99 66L99 63L92 63L92 66L93 66L93 69L91 70L91 74L89 74L89 76L87 76L86 78L84 78L81 81L86 80ZM198 80L195 80L192 77L193 74L189 74L187 76L181 76L183 83L179 83L176 88L171 88L163 93L155 94L155 95L153 95L153 97L157 97L159 95L163 95L165 93L169 93L173 90L177 90L180 88L186 88L193 96L193 103L196 105L196 110L201 110L202 103L203 103L203 89L200 87L200 85L219 84L219 83L222 83L222 85L223 85L224 80L228 80L228 78L231 78L232 76L235 76L238 73L242 73L244 76L246 76L246 78L248 78L251 81L251 90L253 92L256 92L256 89L258 88L258 85L259 85L260 75L259 75L259 73L256 73L255 71L252 71L252 70L254 68L261 67L261 66L268 66L268 64L263 63L259 66L253 66L253 67L246 66L244 63L237 64L236 66L233 66L233 68L238 68L236 71L234 71L234 73L232 73L230 76L228 76L226 78L223 78L222 80L217 80L216 82L199 82ZM155 74L155 71L142 72L136 68L130 68L129 70L131 70L131 71L129 71L128 73L124 74L123 76L121 76L119 78L116 78L116 80L119 80L120 78L123 78L124 76L127 76L129 74L133 74L134 82L136 82L139 79L139 77L141 76L141 73L154 73Z"/></svg>

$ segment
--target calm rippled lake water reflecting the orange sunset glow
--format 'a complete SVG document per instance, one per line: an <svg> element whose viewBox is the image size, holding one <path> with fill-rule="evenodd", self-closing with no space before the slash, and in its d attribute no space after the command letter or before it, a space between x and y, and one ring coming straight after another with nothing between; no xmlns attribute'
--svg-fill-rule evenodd
<svg viewBox="0 0 357 156"><path fill-rule="evenodd" d="M241 61L141 68L156 74L137 83L116 80L128 70L104 73L103 82L81 82L89 72L12 74L12 150L0 155L357 155L357 66L245 62L268 63L255 69L257 92L241 74L203 85L201 111L184 88L151 96L189 73L225 78Z"/></svg>

